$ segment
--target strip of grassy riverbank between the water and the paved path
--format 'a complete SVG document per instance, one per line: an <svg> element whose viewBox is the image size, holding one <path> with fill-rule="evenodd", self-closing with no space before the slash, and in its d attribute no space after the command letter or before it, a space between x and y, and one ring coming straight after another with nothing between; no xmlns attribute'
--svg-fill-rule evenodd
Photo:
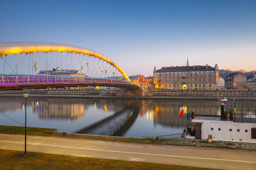
<svg viewBox="0 0 256 170"><path fill-rule="evenodd" d="M19 127L19 126L0 126L0 133L2 134L24 135L24 130L25 130L24 127ZM68 138L68 139L86 139L86 140L92 140L92 141L144 143L144 144L151 144L151 145L217 147L217 148L232 148L237 150L255 150L256 151L256 143L224 142L224 141L213 141L212 143L208 143L207 141L200 141L200 140L195 141L195 140L189 140L189 139L173 139L173 138L159 138L159 140L156 141L156 137L125 138L125 137L110 137L110 136L100 136L100 135L72 134L72 133L68 133L64 136L63 132L58 131L57 129L48 129L48 128L27 128L27 135L55 137L55 138Z"/></svg>

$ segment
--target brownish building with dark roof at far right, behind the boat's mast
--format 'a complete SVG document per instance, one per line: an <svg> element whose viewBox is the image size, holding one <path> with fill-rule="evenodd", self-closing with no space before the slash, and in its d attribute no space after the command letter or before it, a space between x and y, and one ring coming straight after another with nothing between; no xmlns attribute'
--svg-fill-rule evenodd
<svg viewBox="0 0 256 170"><path fill-rule="evenodd" d="M242 72L232 73L225 76L226 89L243 89L246 88L246 74Z"/></svg>

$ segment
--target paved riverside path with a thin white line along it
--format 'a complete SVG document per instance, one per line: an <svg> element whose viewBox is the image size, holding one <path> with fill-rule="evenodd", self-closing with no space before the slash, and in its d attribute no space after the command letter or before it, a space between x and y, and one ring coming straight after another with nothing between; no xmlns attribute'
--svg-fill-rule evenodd
<svg viewBox="0 0 256 170"><path fill-rule="evenodd" d="M0 148L24 151L24 135L0 134ZM256 169L256 152L27 135L27 151L216 169Z"/></svg>

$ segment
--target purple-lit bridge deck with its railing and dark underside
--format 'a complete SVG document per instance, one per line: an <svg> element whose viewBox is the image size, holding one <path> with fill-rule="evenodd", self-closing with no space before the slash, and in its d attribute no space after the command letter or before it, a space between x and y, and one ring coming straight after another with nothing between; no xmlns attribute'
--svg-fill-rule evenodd
<svg viewBox="0 0 256 170"><path fill-rule="evenodd" d="M138 84L127 80L52 75L1 75L0 90L26 88L106 86L138 89Z"/></svg>

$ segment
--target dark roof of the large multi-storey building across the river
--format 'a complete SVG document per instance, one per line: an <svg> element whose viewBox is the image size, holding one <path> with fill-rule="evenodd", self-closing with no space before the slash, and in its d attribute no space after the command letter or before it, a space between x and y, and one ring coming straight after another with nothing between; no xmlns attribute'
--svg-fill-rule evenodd
<svg viewBox="0 0 256 170"><path fill-rule="evenodd" d="M156 70L156 73L161 72L170 72L170 71L215 71L218 70L218 66L211 67L211 66L176 66L176 67L162 67L162 69ZM155 72L155 70L154 70Z"/></svg>

